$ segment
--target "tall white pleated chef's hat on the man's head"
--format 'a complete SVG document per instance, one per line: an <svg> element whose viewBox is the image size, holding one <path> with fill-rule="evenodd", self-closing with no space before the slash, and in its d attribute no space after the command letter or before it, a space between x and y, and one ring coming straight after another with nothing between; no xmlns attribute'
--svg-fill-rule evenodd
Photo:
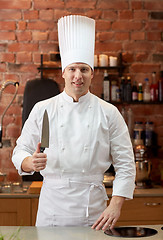
<svg viewBox="0 0 163 240"><path fill-rule="evenodd" d="M81 62L94 67L95 20L70 15L58 21L58 40L62 71L69 64Z"/></svg>

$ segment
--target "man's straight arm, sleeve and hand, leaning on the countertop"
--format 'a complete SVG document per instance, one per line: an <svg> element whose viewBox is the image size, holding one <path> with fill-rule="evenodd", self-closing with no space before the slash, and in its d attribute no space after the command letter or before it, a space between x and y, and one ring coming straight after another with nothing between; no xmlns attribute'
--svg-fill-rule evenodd
<svg viewBox="0 0 163 240"><path fill-rule="evenodd" d="M135 163L128 128L119 111L113 110L109 115L110 154L116 172L113 194L109 206L92 226L104 231L115 226L124 200L133 197L135 187Z"/></svg>

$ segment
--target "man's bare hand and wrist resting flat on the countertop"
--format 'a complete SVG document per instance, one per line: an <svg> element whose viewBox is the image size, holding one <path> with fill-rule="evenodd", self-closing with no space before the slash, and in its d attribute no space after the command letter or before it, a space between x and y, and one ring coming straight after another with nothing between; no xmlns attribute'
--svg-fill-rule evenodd
<svg viewBox="0 0 163 240"><path fill-rule="evenodd" d="M103 231L105 231L108 227L112 229L120 216L124 200L124 197L113 196L109 206L93 224L92 228L96 230L100 230L102 228Z"/></svg>

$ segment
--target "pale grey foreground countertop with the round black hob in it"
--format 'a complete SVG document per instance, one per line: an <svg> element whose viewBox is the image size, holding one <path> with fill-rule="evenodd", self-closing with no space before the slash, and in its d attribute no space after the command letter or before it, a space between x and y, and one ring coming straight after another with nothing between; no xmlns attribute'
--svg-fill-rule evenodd
<svg viewBox="0 0 163 240"><path fill-rule="evenodd" d="M142 227L142 226L141 226ZM163 230L162 225L144 225L143 227L153 228L158 231L156 235L145 237L142 239L162 240ZM16 232L16 226L1 226L0 233L5 235L4 240L9 239L12 233ZM21 227L18 235L19 239L23 240L128 240L135 238L112 237L96 231L90 227ZM17 239L17 238L16 238ZM137 238L136 238L137 239ZM139 238L140 239L140 238Z"/></svg>

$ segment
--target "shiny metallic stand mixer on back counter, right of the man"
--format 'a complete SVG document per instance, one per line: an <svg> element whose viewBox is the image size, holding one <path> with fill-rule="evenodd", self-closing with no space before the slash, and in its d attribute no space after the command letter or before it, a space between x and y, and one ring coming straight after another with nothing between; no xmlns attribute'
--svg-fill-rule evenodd
<svg viewBox="0 0 163 240"><path fill-rule="evenodd" d="M136 187L151 188L150 172L151 161L148 158L144 145L137 145L134 148L136 164Z"/></svg>

